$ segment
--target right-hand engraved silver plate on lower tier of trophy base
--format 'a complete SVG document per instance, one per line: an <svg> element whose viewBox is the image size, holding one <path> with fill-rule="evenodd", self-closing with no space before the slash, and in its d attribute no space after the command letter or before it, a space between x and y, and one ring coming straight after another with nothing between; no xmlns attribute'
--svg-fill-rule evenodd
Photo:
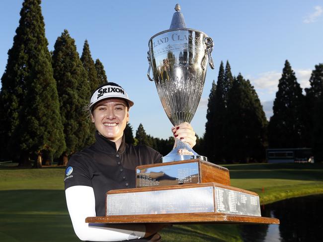
<svg viewBox="0 0 323 242"><path fill-rule="evenodd" d="M261 217L258 196L217 186L214 195L218 213Z"/></svg>

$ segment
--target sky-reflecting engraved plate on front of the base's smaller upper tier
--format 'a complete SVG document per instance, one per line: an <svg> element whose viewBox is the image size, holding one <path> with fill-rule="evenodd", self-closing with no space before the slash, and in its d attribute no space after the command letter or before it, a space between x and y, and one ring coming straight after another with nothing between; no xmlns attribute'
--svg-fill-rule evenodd
<svg viewBox="0 0 323 242"><path fill-rule="evenodd" d="M198 162L137 169L137 187L199 183Z"/></svg>

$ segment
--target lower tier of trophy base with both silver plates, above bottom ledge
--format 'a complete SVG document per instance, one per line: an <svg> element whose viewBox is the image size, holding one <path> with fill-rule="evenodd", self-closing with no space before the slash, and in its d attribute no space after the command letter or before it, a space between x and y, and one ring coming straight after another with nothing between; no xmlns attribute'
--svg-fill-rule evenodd
<svg viewBox="0 0 323 242"><path fill-rule="evenodd" d="M106 195L106 216L176 213L261 216L257 194L215 182L147 191L114 190Z"/></svg>

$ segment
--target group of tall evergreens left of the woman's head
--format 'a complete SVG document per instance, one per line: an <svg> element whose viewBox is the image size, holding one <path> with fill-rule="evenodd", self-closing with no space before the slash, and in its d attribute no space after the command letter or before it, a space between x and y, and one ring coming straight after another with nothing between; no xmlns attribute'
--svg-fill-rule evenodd
<svg viewBox="0 0 323 242"><path fill-rule="evenodd" d="M49 52L40 3L23 2L0 92L1 158L20 165L34 159L38 167L58 157L66 164L69 155L94 142L85 109L91 92L107 82L87 40L80 58L64 30Z"/></svg>

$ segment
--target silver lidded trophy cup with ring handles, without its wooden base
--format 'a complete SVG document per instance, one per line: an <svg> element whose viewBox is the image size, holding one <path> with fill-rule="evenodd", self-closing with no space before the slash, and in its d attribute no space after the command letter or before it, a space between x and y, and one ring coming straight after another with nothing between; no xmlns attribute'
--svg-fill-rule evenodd
<svg viewBox="0 0 323 242"><path fill-rule="evenodd" d="M214 69L212 39L201 31L186 28L179 4L175 10L170 28L150 38L147 57L147 76L155 81L162 107L174 126L193 119L203 91L207 62ZM189 159L207 161L187 143L176 139L176 147L162 157L163 163Z"/></svg>

